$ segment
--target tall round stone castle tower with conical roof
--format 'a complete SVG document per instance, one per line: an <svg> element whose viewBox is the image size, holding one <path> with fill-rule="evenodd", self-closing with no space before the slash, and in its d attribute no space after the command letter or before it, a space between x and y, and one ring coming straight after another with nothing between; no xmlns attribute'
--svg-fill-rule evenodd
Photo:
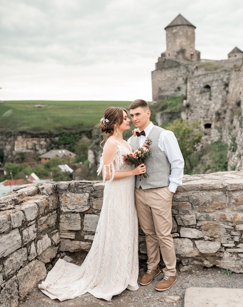
<svg viewBox="0 0 243 307"><path fill-rule="evenodd" d="M200 61L200 52L195 50L195 28L179 14L164 28L167 50L162 56L176 60Z"/></svg>

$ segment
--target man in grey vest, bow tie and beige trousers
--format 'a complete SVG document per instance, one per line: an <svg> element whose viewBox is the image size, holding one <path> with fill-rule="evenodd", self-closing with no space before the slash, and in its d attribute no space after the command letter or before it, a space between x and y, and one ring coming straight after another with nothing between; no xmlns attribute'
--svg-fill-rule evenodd
<svg viewBox="0 0 243 307"><path fill-rule="evenodd" d="M182 184L184 159L172 131L150 122L151 112L146 101L138 99L129 106L136 135L129 138L133 150L141 147L146 138L152 139L151 156L145 161L147 179L136 176L135 204L140 226L145 234L147 272L140 280L147 285L161 273L160 250L165 264L163 279L155 289L164 291L176 281L176 255L171 235L172 197ZM171 174L170 170L171 169Z"/></svg>

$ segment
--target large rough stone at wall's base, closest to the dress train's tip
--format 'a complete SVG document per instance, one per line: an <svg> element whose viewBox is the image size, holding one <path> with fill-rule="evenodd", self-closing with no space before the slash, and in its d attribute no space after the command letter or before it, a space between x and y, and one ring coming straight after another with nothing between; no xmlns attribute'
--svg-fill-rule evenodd
<svg viewBox="0 0 243 307"><path fill-rule="evenodd" d="M24 268L20 269L17 274L20 299L23 299L46 275L45 264L38 260L33 260Z"/></svg>

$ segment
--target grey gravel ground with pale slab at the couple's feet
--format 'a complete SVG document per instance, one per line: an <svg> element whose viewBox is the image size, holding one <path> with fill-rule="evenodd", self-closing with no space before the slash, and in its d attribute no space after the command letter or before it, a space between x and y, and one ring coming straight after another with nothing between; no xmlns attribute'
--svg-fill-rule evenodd
<svg viewBox="0 0 243 307"><path fill-rule="evenodd" d="M145 267L140 267L139 280ZM125 290L112 300L96 299L86 293L73 300L59 302L44 295L38 287L28 293L18 307L243 307L243 274L222 268L197 267L180 272L177 281L166 291L156 291L162 273L137 291Z"/></svg>

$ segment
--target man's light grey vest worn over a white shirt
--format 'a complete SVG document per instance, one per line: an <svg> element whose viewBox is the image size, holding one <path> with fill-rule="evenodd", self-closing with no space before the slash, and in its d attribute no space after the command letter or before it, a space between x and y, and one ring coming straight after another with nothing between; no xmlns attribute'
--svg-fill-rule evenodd
<svg viewBox="0 0 243 307"><path fill-rule="evenodd" d="M136 175L136 188L141 186L142 189L151 189L169 185L169 161L158 146L159 137L163 130L161 127L154 126L149 135L146 135L152 139L151 155L144 163L149 178L141 179L141 175ZM138 137L133 135L130 144L133 150L136 150L139 147Z"/></svg>

